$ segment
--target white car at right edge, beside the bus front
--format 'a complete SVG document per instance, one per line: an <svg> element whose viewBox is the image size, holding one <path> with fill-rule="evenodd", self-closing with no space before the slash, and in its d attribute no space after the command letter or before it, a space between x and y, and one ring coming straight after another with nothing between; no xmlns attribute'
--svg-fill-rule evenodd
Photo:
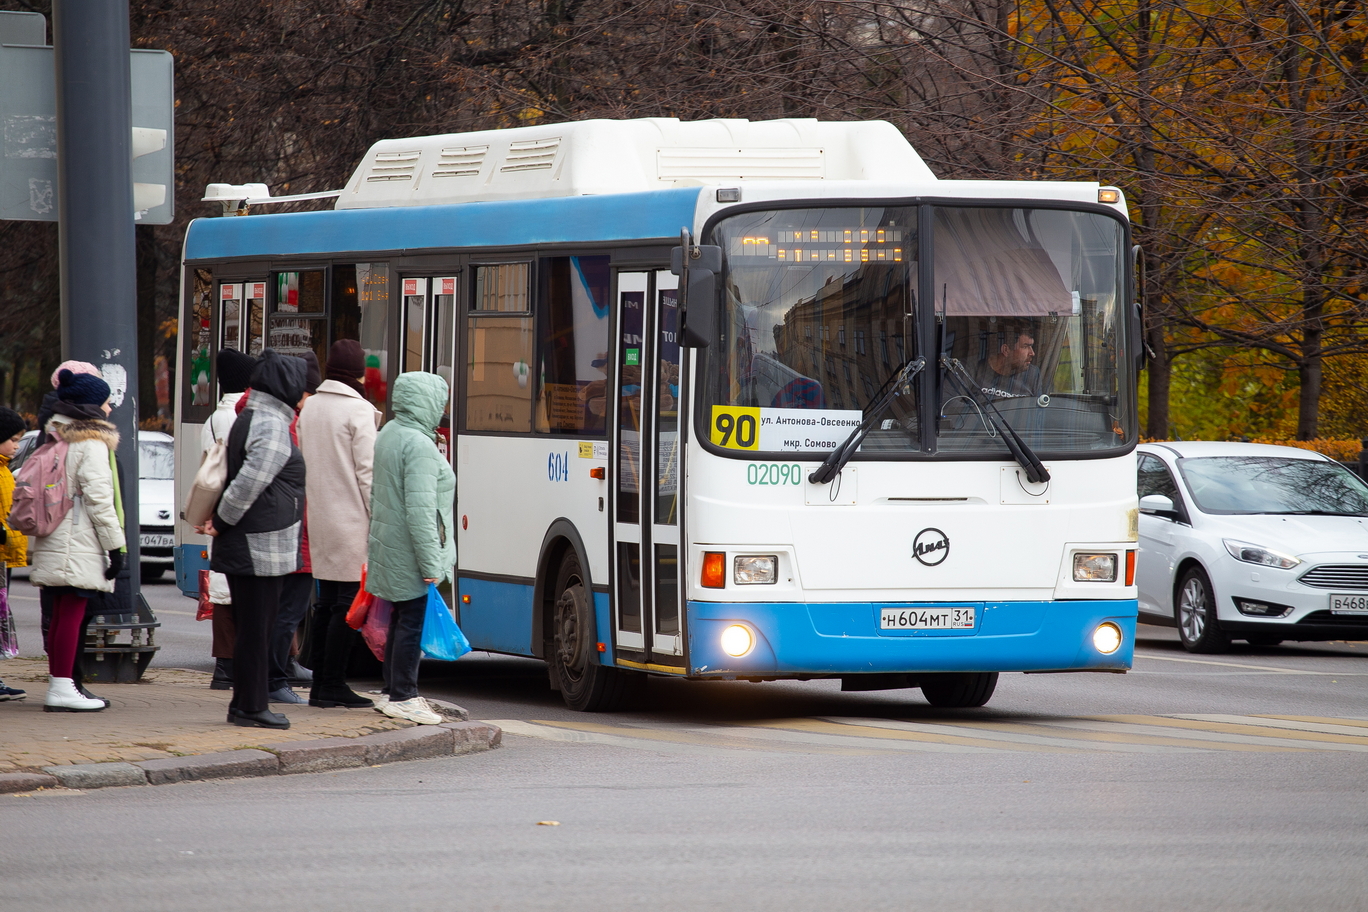
<svg viewBox="0 0 1368 912"><path fill-rule="evenodd" d="M1257 443L1137 450L1140 619L1190 652L1230 641L1368 640L1368 484Z"/></svg>

